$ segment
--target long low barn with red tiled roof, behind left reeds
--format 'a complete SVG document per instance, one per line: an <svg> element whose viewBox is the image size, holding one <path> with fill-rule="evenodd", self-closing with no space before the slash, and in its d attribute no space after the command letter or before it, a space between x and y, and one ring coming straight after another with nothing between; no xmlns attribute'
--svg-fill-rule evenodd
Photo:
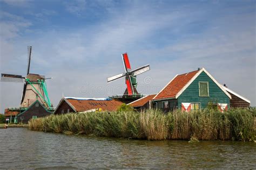
<svg viewBox="0 0 256 170"><path fill-rule="evenodd" d="M69 114L70 112L117 111L122 102L110 98L80 98L63 97L54 114Z"/></svg>

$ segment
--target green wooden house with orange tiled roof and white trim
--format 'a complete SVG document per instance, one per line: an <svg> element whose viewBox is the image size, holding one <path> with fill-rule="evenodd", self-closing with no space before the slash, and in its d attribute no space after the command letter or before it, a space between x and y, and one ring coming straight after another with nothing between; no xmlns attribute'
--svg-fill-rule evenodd
<svg viewBox="0 0 256 170"><path fill-rule="evenodd" d="M165 112L204 109L212 103L220 111L230 107L231 95L205 68L176 75L154 98L154 108Z"/></svg>

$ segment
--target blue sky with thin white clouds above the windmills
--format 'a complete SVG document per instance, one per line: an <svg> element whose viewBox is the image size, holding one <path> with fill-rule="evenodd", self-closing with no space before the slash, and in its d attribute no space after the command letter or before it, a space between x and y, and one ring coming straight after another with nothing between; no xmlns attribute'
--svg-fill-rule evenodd
<svg viewBox="0 0 256 170"><path fill-rule="evenodd" d="M56 107L62 96L123 94L122 53L138 91L156 94L176 74L204 67L220 84L256 106L255 1L0 0L0 73L46 80ZM23 83L0 82L0 112L18 107Z"/></svg>

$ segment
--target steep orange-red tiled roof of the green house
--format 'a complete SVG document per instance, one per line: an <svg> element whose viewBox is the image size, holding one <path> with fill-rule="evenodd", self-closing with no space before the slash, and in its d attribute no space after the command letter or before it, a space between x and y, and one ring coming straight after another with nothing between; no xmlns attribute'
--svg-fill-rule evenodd
<svg viewBox="0 0 256 170"><path fill-rule="evenodd" d="M158 100L161 98L172 98L179 93L179 91L186 86L186 84L192 79L194 75L196 75L199 70L185 73L176 76L167 86L160 91L160 93L154 98L154 100Z"/></svg>

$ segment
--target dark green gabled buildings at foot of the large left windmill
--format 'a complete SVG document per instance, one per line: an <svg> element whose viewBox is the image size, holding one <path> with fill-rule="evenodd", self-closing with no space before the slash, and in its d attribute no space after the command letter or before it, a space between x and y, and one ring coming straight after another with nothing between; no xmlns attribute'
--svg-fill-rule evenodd
<svg viewBox="0 0 256 170"><path fill-rule="evenodd" d="M45 117L53 113L53 110L46 109L38 100L28 108L19 109L19 111L17 111L17 108L5 109L4 115L10 119L10 123L28 123L31 118Z"/></svg>

